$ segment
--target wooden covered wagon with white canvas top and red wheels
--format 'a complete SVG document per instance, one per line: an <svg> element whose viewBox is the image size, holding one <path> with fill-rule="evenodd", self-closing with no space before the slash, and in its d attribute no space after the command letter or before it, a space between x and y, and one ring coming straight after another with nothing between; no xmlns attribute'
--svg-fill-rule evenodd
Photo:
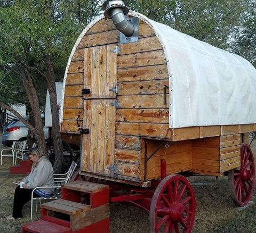
<svg viewBox="0 0 256 233"><path fill-rule="evenodd" d="M123 1L103 7L65 72L61 131L82 136L79 173L125 189L110 200L148 211L151 232L192 230L188 174L228 176L234 201L247 204L254 160L244 135L256 131L254 67Z"/></svg>

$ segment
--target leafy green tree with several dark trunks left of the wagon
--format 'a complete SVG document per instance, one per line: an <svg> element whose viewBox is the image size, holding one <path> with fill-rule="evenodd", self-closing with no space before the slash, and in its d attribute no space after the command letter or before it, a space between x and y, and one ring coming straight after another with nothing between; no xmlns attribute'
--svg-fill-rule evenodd
<svg viewBox="0 0 256 233"><path fill-rule="evenodd" d="M24 121L19 114L15 114L33 132L39 147L46 153L41 104L36 89L46 84L51 101L52 135L57 155L54 163L56 171L60 170L63 157L55 80L62 79L71 48L81 32L80 29L84 27L84 22L87 23L97 13L97 6L92 7L92 3L94 1L82 0L0 2L0 64L4 80L9 84L5 87L11 88L10 81L14 83L21 80L34 115L35 127ZM74 6L76 11L73 12ZM87 12L86 9L93 12ZM2 79L4 76L2 75ZM11 92L15 93L13 89ZM6 100L2 98L4 103L7 103ZM4 103L0 102L0 105L14 112Z"/></svg>

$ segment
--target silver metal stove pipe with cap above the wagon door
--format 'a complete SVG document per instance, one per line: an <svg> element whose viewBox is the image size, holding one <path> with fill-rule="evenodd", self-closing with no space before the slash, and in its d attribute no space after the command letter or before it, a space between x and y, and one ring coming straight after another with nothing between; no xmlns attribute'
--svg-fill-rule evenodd
<svg viewBox="0 0 256 233"><path fill-rule="evenodd" d="M134 26L131 21L127 20L125 15L129 12L128 7L123 1L107 0L103 3L104 15L108 19L112 19L117 30L121 31L126 37L132 36Z"/></svg>

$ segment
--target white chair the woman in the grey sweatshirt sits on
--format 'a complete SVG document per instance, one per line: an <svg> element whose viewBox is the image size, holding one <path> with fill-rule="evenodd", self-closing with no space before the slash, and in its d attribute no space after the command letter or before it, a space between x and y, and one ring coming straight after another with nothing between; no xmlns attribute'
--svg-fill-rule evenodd
<svg viewBox="0 0 256 233"><path fill-rule="evenodd" d="M73 173L75 172L77 164L73 161L70 165L70 168L68 172L64 174L53 174L53 179L54 179L54 184L55 186L41 186L41 187L36 187L33 189L32 194L31 194L31 215L30 219L32 220L33 218L33 201L36 201L36 211L37 211L37 201L39 201L39 206L41 206L42 200L54 200L54 199L59 199L61 198L60 194L60 188L61 184L67 184L69 180L71 179ZM51 196L48 197L33 197L33 194L36 189L44 189L44 188L54 188L54 191Z"/></svg>

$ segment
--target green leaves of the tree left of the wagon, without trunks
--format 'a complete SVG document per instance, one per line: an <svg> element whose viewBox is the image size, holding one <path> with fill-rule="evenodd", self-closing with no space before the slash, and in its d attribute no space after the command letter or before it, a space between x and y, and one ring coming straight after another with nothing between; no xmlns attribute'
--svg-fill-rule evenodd
<svg viewBox="0 0 256 233"><path fill-rule="evenodd" d="M55 79L61 81L78 35L99 11L95 1L0 1L1 101L27 103L20 80L24 64L46 73L45 57L52 56ZM42 76L29 71L44 105L46 85ZM17 93L19 93L17 95Z"/></svg>

